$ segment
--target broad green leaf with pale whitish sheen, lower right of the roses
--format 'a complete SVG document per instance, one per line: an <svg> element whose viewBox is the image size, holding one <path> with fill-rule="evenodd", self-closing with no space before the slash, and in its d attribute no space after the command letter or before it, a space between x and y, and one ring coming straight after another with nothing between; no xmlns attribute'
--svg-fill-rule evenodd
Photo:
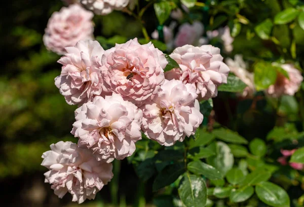
<svg viewBox="0 0 304 207"><path fill-rule="evenodd" d="M224 176L233 167L233 154L229 146L223 142L216 142L213 145L216 156L208 157L207 163L218 169Z"/></svg>

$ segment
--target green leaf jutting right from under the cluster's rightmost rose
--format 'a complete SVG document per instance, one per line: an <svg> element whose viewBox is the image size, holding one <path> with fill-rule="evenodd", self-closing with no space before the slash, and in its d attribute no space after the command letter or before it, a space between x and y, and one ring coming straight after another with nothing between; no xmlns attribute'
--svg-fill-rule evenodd
<svg viewBox="0 0 304 207"><path fill-rule="evenodd" d="M246 84L233 74L227 77L227 83L220 85L218 91L226 92L242 92L246 88Z"/></svg>

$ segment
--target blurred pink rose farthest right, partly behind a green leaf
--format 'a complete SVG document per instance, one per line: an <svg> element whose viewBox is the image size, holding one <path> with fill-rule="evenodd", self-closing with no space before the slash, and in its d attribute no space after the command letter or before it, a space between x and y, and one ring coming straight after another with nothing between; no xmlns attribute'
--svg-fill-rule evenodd
<svg viewBox="0 0 304 207"><path fill-rule="evenodd" d="M278 73L275 84L269 86L266 90L267 94L276 98L282 95L294 95L303 81L301 73L293 64L282 64L280 66L288 73L289 79Z"/></svg>

